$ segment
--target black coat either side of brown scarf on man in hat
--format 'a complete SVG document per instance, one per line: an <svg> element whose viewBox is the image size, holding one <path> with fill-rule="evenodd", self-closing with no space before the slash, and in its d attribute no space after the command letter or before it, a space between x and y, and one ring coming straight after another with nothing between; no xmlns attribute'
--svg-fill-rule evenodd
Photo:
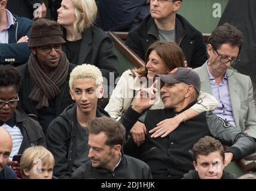
<svg viewBox="0 0 256 191"><path fill-rule="evenodd" d="M69 94L69 74L72 72L76 65L69 63L68 76L66 81L60 85L60 94L55 98L55 116L57 117L63 110L69 106L69 104L74 103ZM34 114L38 116L38 110L36 110L36 101L32 101L29 98L29 94L33 90L35 82L31 78L28 70L28 63L19 66L18 69L22 73L22 85L19 89L19 107L22 108L27 114Z"/></svg>

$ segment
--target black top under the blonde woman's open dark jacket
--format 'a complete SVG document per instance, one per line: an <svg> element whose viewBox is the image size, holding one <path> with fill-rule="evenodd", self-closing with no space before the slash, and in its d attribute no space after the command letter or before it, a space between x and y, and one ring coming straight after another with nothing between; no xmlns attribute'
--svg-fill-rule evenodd
<svg viewBox="0 0 256 191"><path fill-rule="evenodd" d="M63 45L66 47L66 57L70 63L78 64L81 41L82 39L74 42L66 40L66 44Z"/></svg>

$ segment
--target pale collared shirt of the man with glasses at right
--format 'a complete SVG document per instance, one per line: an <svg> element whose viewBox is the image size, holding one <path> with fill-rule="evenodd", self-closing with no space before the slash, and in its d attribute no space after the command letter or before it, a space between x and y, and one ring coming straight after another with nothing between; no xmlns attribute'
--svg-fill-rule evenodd
<svg viewBox="0 0 256 191"><path fill-rule="evenodd" d="M216 114L220 118L225 119L225 121L228 121L231 125L236 127L233 117L230 95L228 91L227 72L225 72L221 83L217 84L214 76L212 76L211 72L209 71L208 65L207 70L211 83L212 96L214 96L218 100L218 107L214 110L214 114Z"/></svg>

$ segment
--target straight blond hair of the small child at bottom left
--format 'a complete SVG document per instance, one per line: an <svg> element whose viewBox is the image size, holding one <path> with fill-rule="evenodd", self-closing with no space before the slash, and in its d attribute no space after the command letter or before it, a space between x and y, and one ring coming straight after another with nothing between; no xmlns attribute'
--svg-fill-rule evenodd
<svg viewBox="0 0 256 191"><path fill-rule="evenodd" d="M23 152L22 158L20 159L20 171L23 179L29 177L25 175L25 168L31 170L37 160L41 161L42 166L45 164L55 164L53 154L43 146L29 147Z"/></svg>

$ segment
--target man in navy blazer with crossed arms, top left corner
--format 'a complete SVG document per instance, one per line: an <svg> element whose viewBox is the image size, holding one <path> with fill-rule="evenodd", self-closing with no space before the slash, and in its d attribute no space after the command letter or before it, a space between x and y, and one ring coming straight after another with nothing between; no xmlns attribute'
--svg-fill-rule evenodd
<svg viewBox="0 0 256 191"><path fill-rule="evenodd" d="M32 20L14 16L5 9L7 0L0 0L0 64L26 63L31 51L28 47Z"/></svg>

